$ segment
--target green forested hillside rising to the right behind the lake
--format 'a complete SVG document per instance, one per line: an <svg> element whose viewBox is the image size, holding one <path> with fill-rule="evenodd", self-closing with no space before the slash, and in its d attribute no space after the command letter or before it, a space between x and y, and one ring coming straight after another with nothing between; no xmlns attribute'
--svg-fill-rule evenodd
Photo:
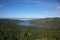
<svg viewBox="0 0 60 40"><path fill-rule="evenodd" d="M29 20L32 24L45 25L48 27L60 28L60 18L44 18L37 20Z"/></svg>

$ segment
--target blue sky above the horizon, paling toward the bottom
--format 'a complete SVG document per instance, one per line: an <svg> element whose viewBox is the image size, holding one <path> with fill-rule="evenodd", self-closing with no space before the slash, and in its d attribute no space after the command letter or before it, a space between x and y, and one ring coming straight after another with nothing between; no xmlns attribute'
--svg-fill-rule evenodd
<svg viewBox="0 0 60 40"><path fill-rule="evenodd" d="M60 0L0 0L0 18L60 17Z"/></svg>

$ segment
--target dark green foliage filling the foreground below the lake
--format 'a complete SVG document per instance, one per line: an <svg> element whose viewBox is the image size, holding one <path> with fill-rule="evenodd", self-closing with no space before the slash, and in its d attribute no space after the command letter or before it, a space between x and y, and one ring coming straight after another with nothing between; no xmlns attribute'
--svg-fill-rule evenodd
<svg viewBox="0 0 60 40"><path fill-rule="evenodd" d="M24 27L6 22L0 21L0 40L60 40L60 28Z"/></svg>

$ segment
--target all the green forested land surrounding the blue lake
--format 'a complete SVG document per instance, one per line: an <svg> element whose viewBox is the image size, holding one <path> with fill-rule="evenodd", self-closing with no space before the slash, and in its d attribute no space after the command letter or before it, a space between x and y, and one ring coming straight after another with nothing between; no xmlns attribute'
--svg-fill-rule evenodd
<svg viewBox="0 0 60 40"><path fill-rule="evenodd" d="M20 26L18 25L19 22L22 21L0 19L0 40L60 40L60 18L29 21L39 25L47 25L51 28Z"/></svg>

